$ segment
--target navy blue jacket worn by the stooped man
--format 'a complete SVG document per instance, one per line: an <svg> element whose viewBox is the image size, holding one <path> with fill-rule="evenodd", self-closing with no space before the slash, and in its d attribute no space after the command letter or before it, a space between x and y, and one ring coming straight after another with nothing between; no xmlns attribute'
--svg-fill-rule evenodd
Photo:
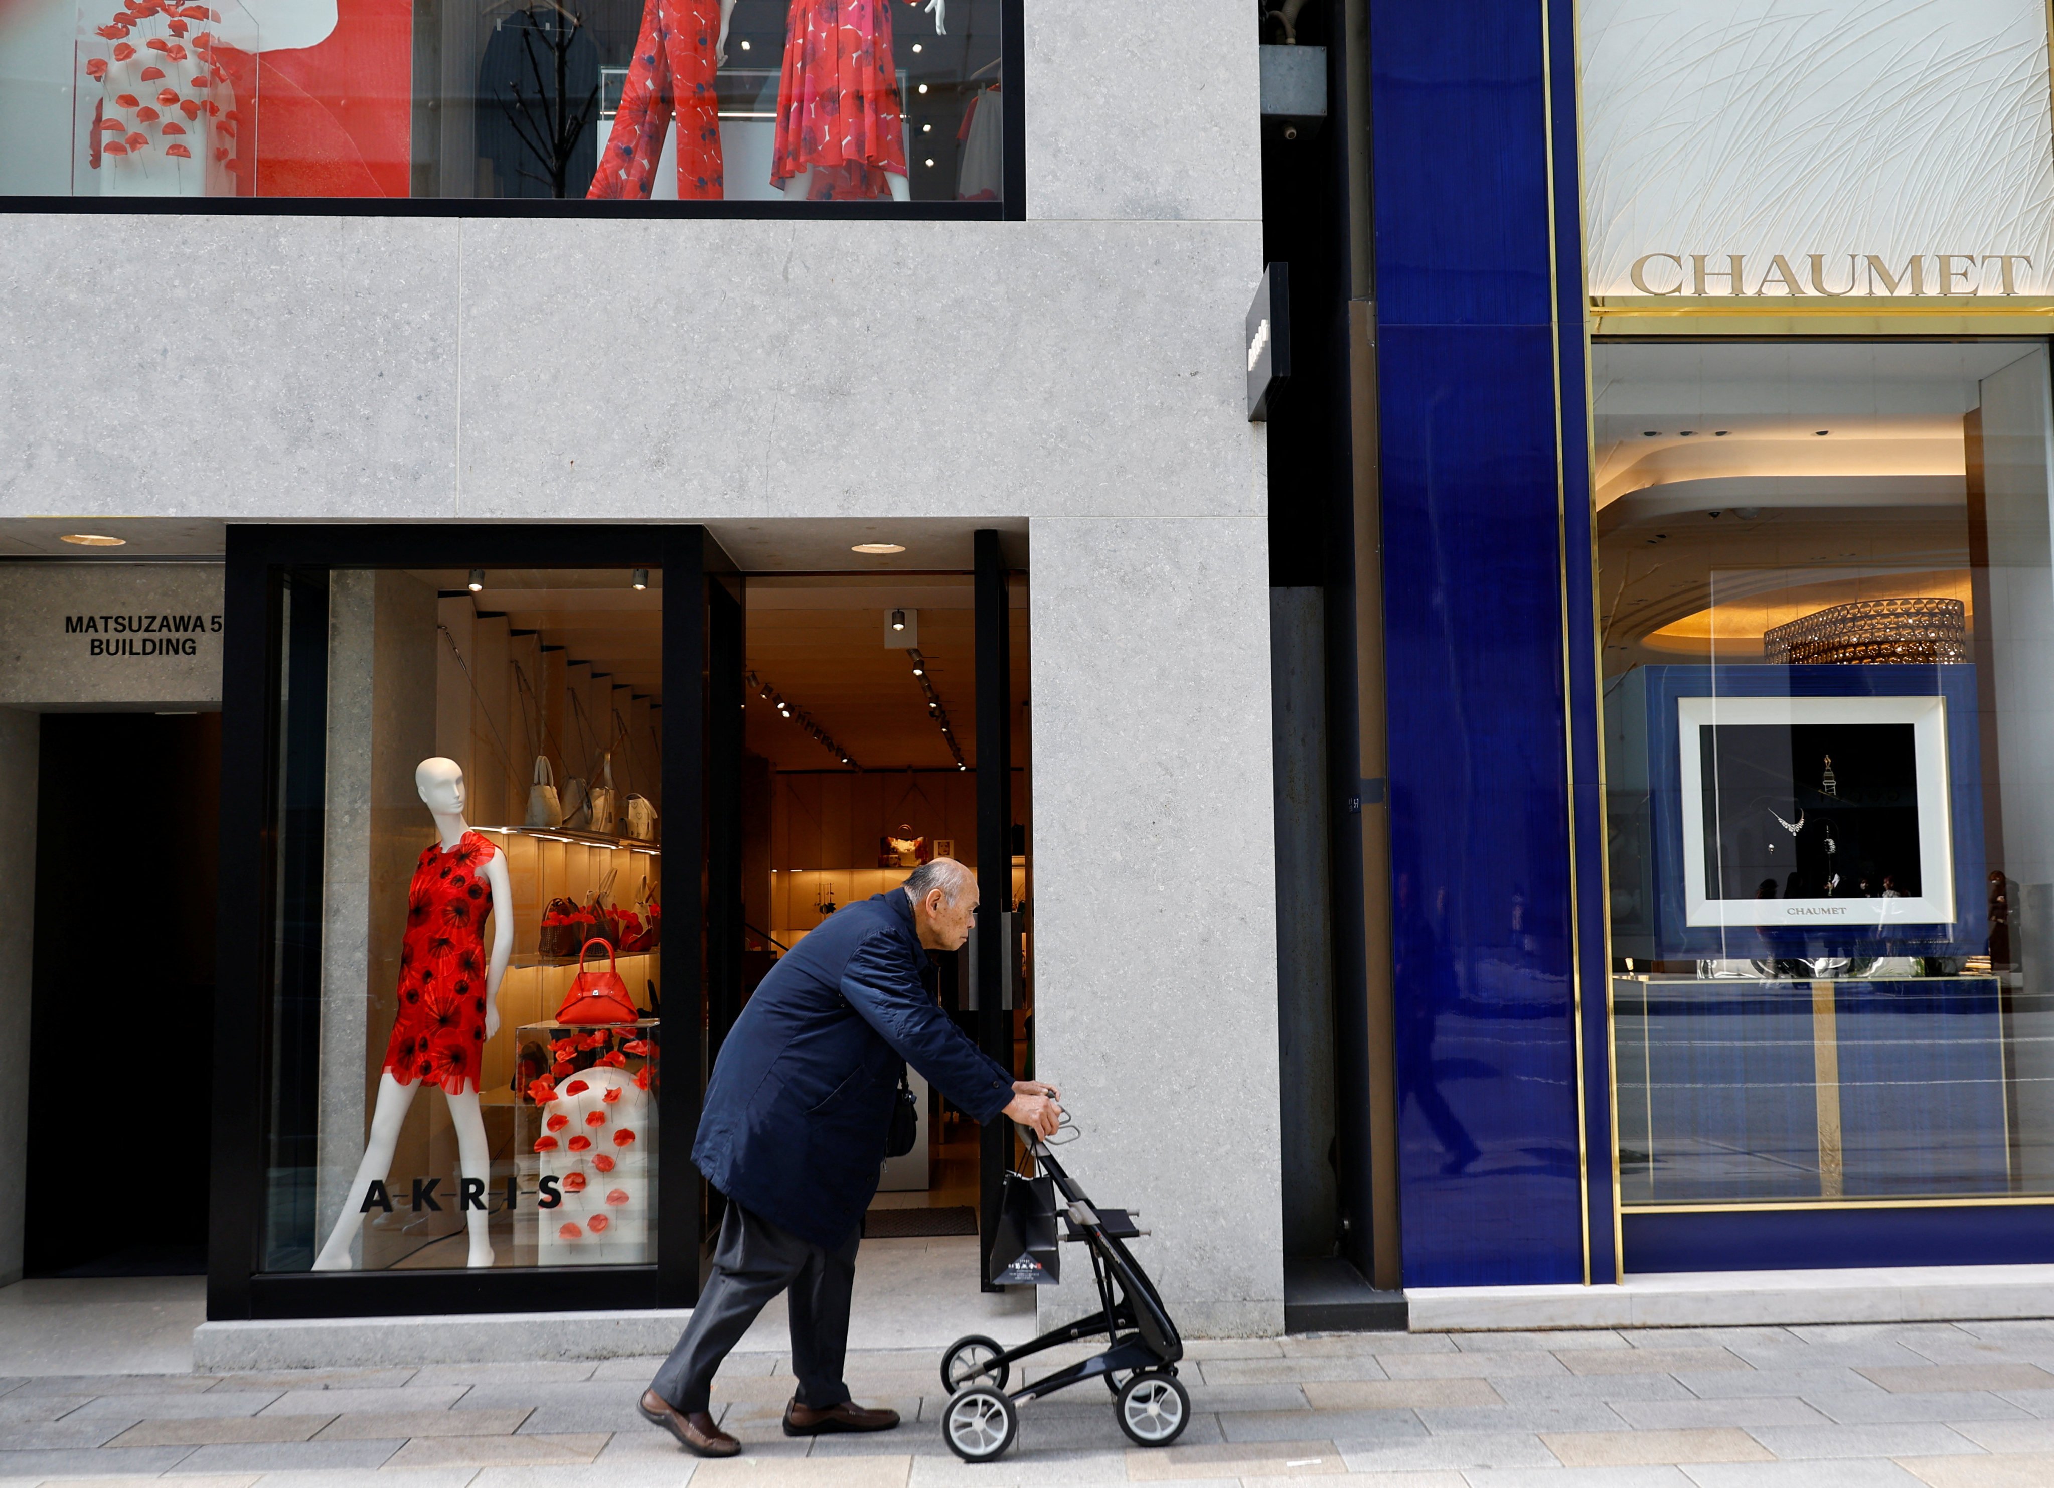
<svg viewBox="0 0 2054 1488"><path fill-rule="evenodd" d="M707 1083L707 1182L834 1250L877 1192L906 1063L974 1120L998 1116L1013 1075L928 997L924 966L904 890L830 915L772 966Z"/></svg>

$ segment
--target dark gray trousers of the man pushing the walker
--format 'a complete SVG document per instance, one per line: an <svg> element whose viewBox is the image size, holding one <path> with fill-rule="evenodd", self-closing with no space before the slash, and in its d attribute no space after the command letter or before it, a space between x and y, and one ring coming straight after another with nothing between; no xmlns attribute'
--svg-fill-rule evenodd
<svg viewBox="0 0 2054 1488"><path fill-rule="evenodd" d="M678 1410L705 1410L713 1398L713 1371L741 1342L756 1313L781 1291L791 1291L791 1371L799 1377L799 1404L815 1410L840 1406L848 1400L842 1361L848 1354L848 1293L857 1285L861 1243L859 1227L842 1248L824 1250L729 1198L713 1250L713 1278L649 1387Z"/></svg>

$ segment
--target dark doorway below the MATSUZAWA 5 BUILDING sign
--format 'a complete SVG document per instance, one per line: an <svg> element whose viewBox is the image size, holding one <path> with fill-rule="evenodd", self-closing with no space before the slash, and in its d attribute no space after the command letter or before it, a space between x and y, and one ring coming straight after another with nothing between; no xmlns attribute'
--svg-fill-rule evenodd
<svg viewBox="0 0 2054 1488"><path fill-rule="evenodd" d="M201 1274L222 717L39 732L25 1272Z"/></svg>

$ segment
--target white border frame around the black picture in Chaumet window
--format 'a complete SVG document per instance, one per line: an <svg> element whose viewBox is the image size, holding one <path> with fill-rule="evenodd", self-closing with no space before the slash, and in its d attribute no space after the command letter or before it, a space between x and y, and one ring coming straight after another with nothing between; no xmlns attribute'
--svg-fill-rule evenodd
<svg viewBox="0 0 2054 1488"><path fill-rule="evenodd" d="M1705 882L1705 726L1910 723L1918 812L1918 894L1896 898L1713 898ZM1684 923L1692 929L1777 925L1949 925L1955 919L1953 820L1945 697L1680 697L1676 754L1682 795ZM1715 824L1713 824L1715 826Z"/></svg>

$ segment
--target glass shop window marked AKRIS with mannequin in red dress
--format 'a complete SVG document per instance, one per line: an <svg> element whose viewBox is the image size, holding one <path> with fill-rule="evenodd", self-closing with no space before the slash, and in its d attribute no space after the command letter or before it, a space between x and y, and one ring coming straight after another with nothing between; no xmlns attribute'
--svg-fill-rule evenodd
<svg viewBox="0 0 2054 1488"><path fill-rule="evenodd" d="M263 1270L653 1264L661 575L283 612Z"/></svg>

